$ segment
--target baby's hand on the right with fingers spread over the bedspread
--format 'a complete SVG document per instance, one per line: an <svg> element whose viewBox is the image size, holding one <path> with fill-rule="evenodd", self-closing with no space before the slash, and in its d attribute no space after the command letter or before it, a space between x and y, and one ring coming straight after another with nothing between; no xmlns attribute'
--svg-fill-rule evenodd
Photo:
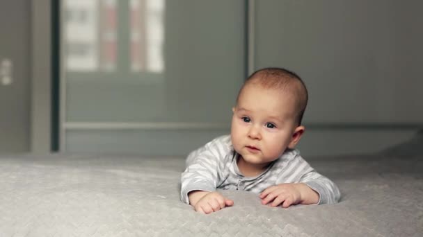
<svg viewBox="0 0 423 237"><path fill-rule="evenodd" d="M262 204L271 202L271 207L277 207L282 203L284 208L295 204L312 204L319 201L319 194L302 183L271 186L260 193L259 197L262 199Z"/></svg>

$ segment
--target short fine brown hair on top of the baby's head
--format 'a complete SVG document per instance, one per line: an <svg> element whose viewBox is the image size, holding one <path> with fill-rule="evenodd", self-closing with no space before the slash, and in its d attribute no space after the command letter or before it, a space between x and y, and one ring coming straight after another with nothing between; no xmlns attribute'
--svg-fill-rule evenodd
<svg viewBox="0 0 423 237"><path fill-rule="evenodd" d="M247 80L244 82L244 85L239 90L239 94L241 94L242 89L250 82L258 82L266 89L289 89L289 91L293 92L297 99L297 107L299 108L296 119L298 121L298 125L301 125L305 107L307 107L308 91L300 76L298 76L293 71L278 67L260 69L255 71L247 78Z"/></svg>

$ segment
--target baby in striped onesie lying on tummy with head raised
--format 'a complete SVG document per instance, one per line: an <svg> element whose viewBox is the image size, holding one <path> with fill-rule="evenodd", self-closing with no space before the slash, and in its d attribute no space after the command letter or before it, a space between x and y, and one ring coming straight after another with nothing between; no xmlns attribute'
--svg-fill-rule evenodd
<svg viewBox="0 0 423 237"><path fill-rule="evenodd" d="M234 204L216 188L259 193L262 204L271 207L337 202L337 186L295 149L305 131L301 120L307 101L307 89L292 71L253 73L232 108L230 135L186 159L181 200L206 214Z"/></svg>

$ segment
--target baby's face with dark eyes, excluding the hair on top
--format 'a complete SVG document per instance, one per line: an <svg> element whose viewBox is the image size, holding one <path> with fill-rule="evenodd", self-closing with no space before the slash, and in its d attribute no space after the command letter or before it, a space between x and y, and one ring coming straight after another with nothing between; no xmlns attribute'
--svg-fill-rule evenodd
<svg viewBox="0 0 423 237"><path fill-rule="evenodd" d="M278 89L246 85L232 116L231 139L239 155L250 164L264 165L294 148L297 128L295 98Z"/></svg>

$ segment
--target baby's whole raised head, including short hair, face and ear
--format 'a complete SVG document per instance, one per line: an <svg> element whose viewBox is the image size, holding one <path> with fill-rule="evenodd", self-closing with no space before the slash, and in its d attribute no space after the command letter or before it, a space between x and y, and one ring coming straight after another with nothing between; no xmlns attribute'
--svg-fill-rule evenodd
<svg viewBox="0 0 423 237"><path fill-rule="evenodd" d="M269 164L278 159L301 138L307 101L307 89L292 71L256 71L241 87L233 108L234 149L251 164Z"/></svg>

